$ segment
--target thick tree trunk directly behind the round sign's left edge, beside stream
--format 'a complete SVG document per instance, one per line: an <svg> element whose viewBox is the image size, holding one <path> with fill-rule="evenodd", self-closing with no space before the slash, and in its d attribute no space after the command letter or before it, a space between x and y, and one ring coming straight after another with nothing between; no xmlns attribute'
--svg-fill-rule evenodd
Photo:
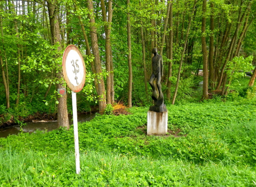
<svg viewBox="0 0 256 187"><path fill-rule="evenodd" d="M58 12L56 1L47 1L47 7L49 12L49 19L50 19L50 30L52 36L52 44L55 45L57 43L61 44L60 38L60 31L59 31L59 19L58 19ZM58 51L61 50L59 45ZM60 55L60 54L59 54ZM57 73L57 78L59 80L63 79L63 72L62 68L60 68L59 72ZM57 84L57 89L65 88L64 83ZM67 95L63 95L62 97L58 97L58 126L66 127L69 129L69 118L68 118L68 108L67 108Z"/></svg>

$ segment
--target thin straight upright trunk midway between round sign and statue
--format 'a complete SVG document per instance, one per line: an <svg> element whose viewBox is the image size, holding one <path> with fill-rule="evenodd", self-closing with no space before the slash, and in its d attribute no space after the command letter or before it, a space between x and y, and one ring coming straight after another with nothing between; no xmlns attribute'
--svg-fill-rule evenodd
<svg viewBox="0 0 256 187"><path fill-rule="evenodd" d="M128 107L132 107L132 84L133 84L133 71L132 71L132 44L131 44L131 25L130 25L130 0L127 0L127 44L128 44L128 69L129 69L129 86L128 86Z"/></svg>

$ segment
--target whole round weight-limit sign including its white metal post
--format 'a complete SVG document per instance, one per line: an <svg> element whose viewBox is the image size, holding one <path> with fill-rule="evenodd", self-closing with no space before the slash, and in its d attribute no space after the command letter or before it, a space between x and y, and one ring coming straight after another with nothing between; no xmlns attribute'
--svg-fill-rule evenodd
<svg viewBox="0 0 256 187"><path fill-rule="evenodd" d="M76 108L76 92L79 92L86 81L86 67L79 49L75 45L69 45L63 54L62 69L65 81L72 90L72 108L74 123L74 139L75 139L75 159L76 173L80 173L79 159L79 143L78 143L78 126L77 126L77 108Z"/></svg>

